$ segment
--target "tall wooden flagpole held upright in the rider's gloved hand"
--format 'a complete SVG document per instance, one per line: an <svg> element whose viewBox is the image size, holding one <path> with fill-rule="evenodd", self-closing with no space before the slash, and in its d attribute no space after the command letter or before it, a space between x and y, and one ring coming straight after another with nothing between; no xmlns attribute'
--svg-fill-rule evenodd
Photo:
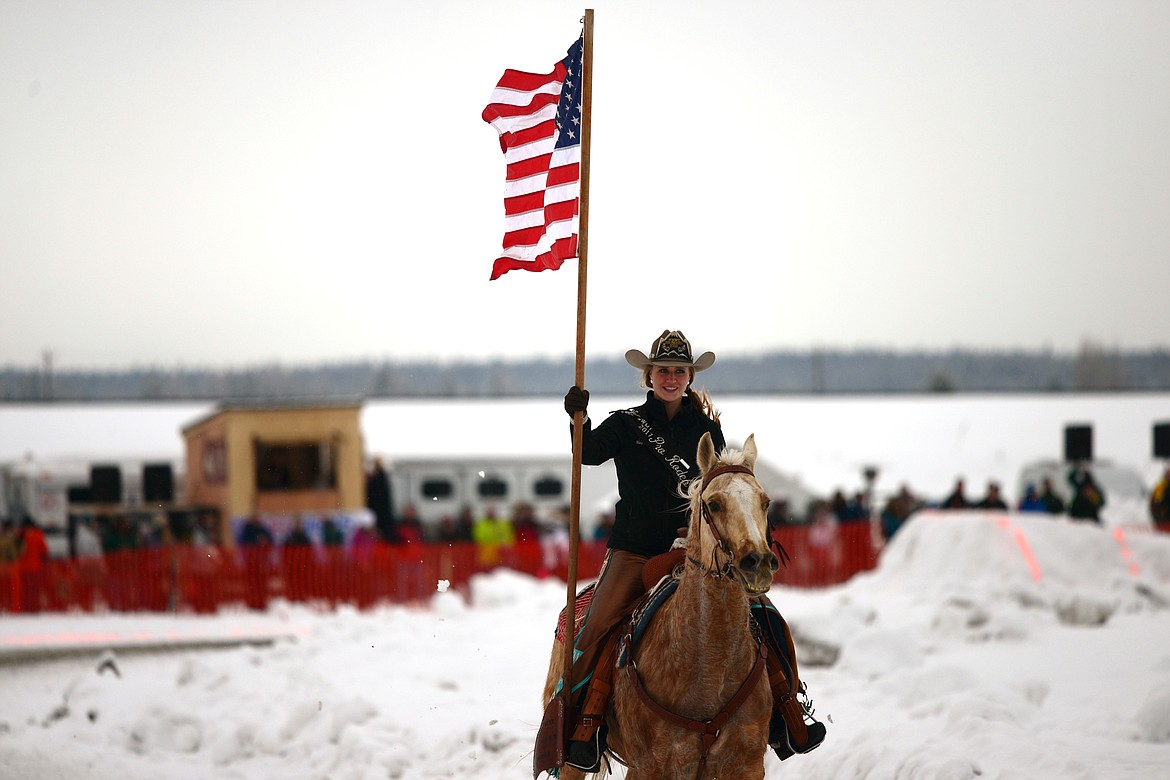
<svg viewBox="0 0 1170 780"><path fill-rule="evenodd" d="M589 278L589 152L590 127L593 113L593 9L585 9L581 50L581 161L580 161L580 219L577 233L577 365L573 384L585 388L585 290ZM573 619L577 612L577 548L580 545L581 504L581 442L585 415L573 414L573 465L569 492L569 587L565 607L565 660L562 692L565 704L572 700ZM567 707L566 707L567 709Z"/></svg>

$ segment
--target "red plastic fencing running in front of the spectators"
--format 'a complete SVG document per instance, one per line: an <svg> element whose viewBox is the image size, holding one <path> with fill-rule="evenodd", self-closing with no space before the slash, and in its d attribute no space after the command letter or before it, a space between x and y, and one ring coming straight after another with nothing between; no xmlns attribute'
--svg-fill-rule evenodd
<svg viewBox="0 0 1170 780"><path fill-rule="evenodd" d="M842 525L832 539L807 527L776 531L792 560L777 572L778 584L818 587L844 582L876 565L878 551L866 524ZM581 543L577 577L597 577L604 543ZM322 608L339 603L370 608L380 603L421 603L439 582L467 592L474 574L497 566L534 577L567 577L564 550L519 543L493 559L470 543L339 547L173 546L132 550L103 558L51 560L43 572L0 565L0 613L30 612L194 612L223 606L263 609L273 599Z"/></svg>

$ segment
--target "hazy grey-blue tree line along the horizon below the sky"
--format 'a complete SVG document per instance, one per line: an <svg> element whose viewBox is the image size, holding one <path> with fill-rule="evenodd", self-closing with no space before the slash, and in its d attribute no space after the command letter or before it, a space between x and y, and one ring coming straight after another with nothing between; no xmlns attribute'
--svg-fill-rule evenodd
<svg viewBox="0 0 1170 780"><path fill-rule="evenodd" d="M586 359L590 392L638 387L624 359ZM706 380L706 382L703 381ZM559 396L573 359L362 360L235 368L108 371L0 367L0 402L204 401ZM1051 350L790 350L721 354L707 384L720 394L1064 393L1170 389L1170 348L1123 351L1085 343Z"/></svg>

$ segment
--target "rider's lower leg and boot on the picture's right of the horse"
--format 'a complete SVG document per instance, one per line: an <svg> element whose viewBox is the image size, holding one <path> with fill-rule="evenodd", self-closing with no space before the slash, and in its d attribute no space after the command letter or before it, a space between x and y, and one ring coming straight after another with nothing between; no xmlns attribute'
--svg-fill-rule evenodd
<svg viewBox="0 0 1170 780"><path fill-rule="evenodd" d="M768 649L768 684L772 689L772 720L768 744L783 761L807 753L825 741L825 724L812 717L805 685L797 672L796 647L784 617L766 598L752 605ZM804 699L804 700L801 700ZM806 723L810 720L811 723Z"/></svg>

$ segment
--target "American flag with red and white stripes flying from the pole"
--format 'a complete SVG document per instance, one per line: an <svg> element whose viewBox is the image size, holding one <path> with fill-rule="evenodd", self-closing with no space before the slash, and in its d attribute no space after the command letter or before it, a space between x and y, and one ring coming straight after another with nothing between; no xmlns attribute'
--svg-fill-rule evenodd
<svg viewBox="0 0 1170 780"><path fill-rule="evenodd" d="M577 256L583 39L550 74L504 71L483 120L504 153L503 253L491 278L557 269Z"/></svg>

